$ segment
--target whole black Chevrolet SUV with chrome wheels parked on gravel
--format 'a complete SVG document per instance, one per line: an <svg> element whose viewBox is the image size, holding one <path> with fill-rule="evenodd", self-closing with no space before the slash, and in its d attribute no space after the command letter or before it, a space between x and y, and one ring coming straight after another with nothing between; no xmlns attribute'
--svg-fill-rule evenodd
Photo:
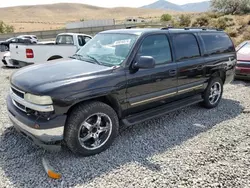
<svg viewBox="0 0 250 188"><path fill-rule="evenodd" d="M236 52L212 29L122 29L97 34L74 56L11 76L10 119L35 143L93 155L122 126L195 103L216 107Z"/></svg>

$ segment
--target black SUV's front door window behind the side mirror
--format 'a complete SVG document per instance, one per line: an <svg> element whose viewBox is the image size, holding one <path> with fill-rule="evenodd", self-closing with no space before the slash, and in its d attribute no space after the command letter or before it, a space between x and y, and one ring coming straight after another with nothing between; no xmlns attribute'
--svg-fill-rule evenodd
<svg viewBox="0 0 250 188"><path fill-rule="evenodd" d="M172 61L171 49L166 35L152 35L146 37L139 49L139 56L152 56L156 64Z"/></svg>

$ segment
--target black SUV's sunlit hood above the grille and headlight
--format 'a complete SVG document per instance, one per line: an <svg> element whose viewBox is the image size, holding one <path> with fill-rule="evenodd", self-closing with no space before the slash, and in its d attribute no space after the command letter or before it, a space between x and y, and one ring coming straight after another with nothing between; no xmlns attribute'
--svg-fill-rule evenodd
<svg viewBox="0 0 250 188"><path fill-rule="evenodd" d="M37 91L36 88L42 90L43 85L56 87L56 83L63 85L74 80L93 79L112 70L112 67L76 59L55 60L20 69L11 76L11 84L20 90L32 92Z"/></svg>

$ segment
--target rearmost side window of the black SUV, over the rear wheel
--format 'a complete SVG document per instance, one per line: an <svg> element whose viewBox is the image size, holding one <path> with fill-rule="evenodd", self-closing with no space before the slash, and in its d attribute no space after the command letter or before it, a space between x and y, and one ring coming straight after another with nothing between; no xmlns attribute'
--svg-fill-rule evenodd
<svg viewBox="0 0 250 188"><path fill-rule="evenodd" d="M225 33L202 33L201 37L208 55L235 51L232 41Z"/></svg>

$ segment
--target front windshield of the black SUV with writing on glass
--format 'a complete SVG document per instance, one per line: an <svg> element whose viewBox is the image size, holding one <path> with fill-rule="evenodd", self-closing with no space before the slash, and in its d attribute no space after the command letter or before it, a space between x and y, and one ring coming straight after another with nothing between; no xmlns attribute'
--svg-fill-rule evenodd
<svg viewBox="0 0 250 188"><path fill-rule="evenodd" d="M97 34L75 57L106 66L121 65L137 38L130 34Z"/></svg>

